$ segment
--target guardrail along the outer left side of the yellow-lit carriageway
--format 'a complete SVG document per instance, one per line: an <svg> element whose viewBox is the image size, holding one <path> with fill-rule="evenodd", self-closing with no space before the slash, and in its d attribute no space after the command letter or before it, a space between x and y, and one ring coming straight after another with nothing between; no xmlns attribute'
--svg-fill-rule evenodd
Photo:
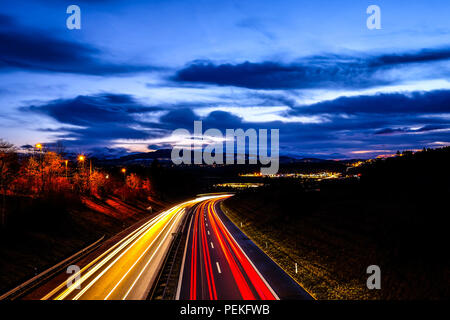
<svg viewBox="0 0 450 320"><path fill-rule="evenodd" d="M0 296L0 300L14 300L23 295L24 293L30 291L31 289L35 288L45 280L51 278L56 273L60 272L61 270L65 269L68 265L71 265L73 262L81 259L84 255L92 252L94 249L96 249L100 243L105 239L105 236L103 235L100 239L95 241L94 243L90 244L86 248L78 251L77 253L71 255L69 258L64 259L63 261L59 262L58 264L54 265L51 268L48 268L47 270L41 272L37 276L31 278L28 281L25 281L21 285L15 287L14 289L6 292L5 294Z"/></svg>

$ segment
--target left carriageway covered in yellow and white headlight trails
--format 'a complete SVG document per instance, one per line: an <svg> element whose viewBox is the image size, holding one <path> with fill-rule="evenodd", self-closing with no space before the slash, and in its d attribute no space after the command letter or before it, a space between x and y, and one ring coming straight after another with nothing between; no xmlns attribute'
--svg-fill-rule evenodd
<svg viewBox="0 0 450 320"><path fill-rule="evenodd" d="M187 209L214 197L199 197L144 223L71 275L41 300L146 299Z"/></svg>

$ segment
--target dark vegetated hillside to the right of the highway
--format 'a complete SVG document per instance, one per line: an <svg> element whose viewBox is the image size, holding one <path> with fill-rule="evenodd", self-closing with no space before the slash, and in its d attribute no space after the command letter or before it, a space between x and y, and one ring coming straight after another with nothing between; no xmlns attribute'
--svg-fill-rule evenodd
<svg viewBox="0 0 450 320"><path fill-rule="evenodd" d="M448 299L449 163L448 147L404 152L350 169L360 179L276 179L224 208L316 298ZM381 290L366 287L369 265Z"/></svg>

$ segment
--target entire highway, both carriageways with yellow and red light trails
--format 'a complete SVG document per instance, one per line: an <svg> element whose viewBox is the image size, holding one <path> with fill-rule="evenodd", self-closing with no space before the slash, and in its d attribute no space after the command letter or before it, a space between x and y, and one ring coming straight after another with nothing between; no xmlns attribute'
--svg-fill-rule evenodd
<svg viewBox="0 0 450 320"><path fill-rule="evenodd" d="M228 197L198 196L142 221L87 256L79 272L61 272L27 299L147 299L184 225L176 299L312 299L220 210Z"/></svg>

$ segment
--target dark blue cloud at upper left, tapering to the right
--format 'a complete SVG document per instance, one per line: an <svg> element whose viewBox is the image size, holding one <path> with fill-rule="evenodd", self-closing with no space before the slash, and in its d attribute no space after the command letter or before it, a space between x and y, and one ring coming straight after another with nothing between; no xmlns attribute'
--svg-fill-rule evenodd
<svg viewBox="0 0 450 320"><path fill-rule="evenodd" d="M24 69L111 75L158 69L153 66L109 63L102 60L101 54L99 49L91 45L24 28L11 17L0 15L0 71Z"/></svg>

